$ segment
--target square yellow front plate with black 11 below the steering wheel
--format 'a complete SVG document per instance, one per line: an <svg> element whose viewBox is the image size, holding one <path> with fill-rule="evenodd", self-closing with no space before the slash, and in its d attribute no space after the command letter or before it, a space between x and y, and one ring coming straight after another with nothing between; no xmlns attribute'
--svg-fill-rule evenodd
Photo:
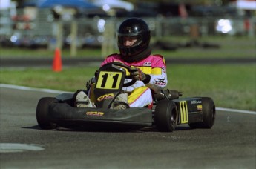
<svg viewBox="0 0 256 169"><path fill-rule="evenodd" d="M101 71L99 72L96 88L108 90L119 89L121 79L122 72Z"/></svg>

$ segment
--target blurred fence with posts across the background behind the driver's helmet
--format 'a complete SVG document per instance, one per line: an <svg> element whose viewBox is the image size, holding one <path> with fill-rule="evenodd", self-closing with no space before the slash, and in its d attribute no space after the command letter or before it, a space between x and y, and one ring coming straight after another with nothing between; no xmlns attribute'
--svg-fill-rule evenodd
<svg viewBox="0 0 256 169"><path fill-rule="evenodd" d="M20 14L19 14L20 13ZM54 19L52 10L37 11L36 19L30 20L17 10L11 19L8 11L0 12L1 46L55 47L71 46L73 54L77 47L99 47L106 49L116 45L116 29L125 18L80 17ZM154 39L168 36L249 36L255 37L256 19L221 17L146 17Z"/></svg>

